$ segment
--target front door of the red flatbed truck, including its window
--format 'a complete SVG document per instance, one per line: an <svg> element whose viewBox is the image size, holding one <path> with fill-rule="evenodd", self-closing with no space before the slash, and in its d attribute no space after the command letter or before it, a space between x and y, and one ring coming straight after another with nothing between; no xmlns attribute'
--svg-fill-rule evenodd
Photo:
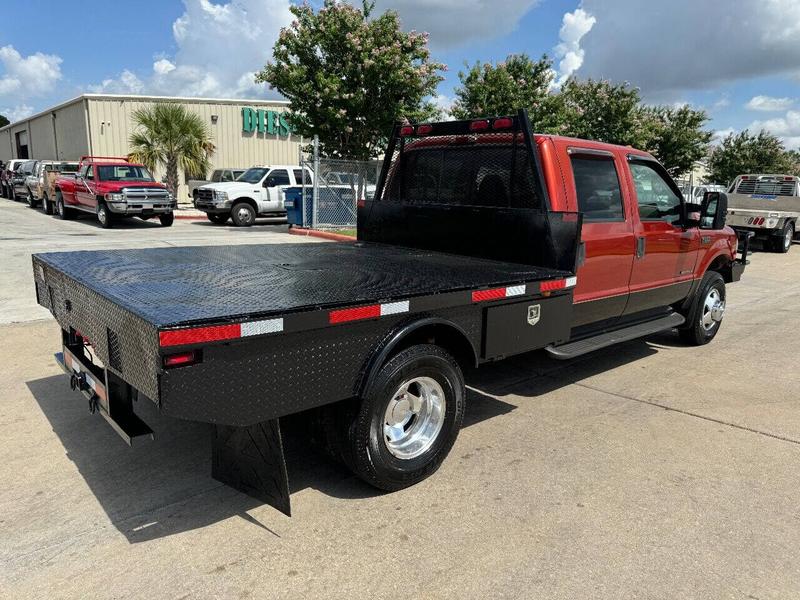
<svg viewBox="0 0 800 600"><path fill-rule="evenodd" d="M625 314L634 314L686 297L694 279L700 239L697 228L683 227L685 200L664 167L635 155L629 156L628 167L638 223Z"/></svg>

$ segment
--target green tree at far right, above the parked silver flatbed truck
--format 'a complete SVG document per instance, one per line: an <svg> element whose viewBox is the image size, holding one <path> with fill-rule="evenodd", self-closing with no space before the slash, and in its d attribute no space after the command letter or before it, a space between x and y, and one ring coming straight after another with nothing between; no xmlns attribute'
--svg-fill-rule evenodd
<svg viewBox="0 0 800 600"><path fill-rule="evenodd" d="M767 131L731 133L709 154L708 180L730 183L743 173L797 173L796 156Z"/></svg>

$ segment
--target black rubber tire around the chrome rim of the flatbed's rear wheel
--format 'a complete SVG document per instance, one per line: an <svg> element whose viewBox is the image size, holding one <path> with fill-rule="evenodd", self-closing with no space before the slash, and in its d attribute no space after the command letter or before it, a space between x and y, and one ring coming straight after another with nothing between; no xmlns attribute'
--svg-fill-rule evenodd
<svg viewBox="0 0 800 600"><path fill-rule="evenodd" d="M421 447L424 451L400 458L390 450L391 442L385 434L387 409L390 402L401 397L395 394L404 383L417 379L432 380L440 386L444 397L444 410L438 420L441 427ZM423 396L421 391L417 394ZM428 402L425 400L423 406L430 408L432 404ZM338 444L341 458L358 477L382 490L395 491L419 483L436 472L453 447L464 420L465 404L464 376L455 359L439 346L412 346L381 368L370 390L355 407L353 418L345 419ZM420 414L424 412L421 410ZM407 432L413 431L415 419L420 419L420 424L427 421L417 415L410 419L405 425Z"/></svg>

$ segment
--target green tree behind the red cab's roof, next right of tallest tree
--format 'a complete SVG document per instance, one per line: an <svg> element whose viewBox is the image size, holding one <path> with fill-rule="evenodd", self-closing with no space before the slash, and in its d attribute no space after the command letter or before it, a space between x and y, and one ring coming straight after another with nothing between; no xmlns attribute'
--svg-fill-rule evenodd
<svg viewBox="0 0 800 600"><path fill-rule="evenodd" d="M512 115L520 108L527 108L533 118L548 100L553 62L547 55L534 61L527 54L511 54L496 65L476 62L466 72L459 71L458 78L461 85L451 109L456 119Z"/></svg>

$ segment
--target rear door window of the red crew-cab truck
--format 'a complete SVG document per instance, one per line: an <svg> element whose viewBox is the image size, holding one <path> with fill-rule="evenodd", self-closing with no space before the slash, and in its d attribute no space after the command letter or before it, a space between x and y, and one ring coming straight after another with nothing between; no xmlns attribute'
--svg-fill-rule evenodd
<svg viewBox="0 0 800 600"><path fill-rule="evenodd" d="M622 191L611 156L573 154L572 176L584 222L624 221Z"/></svg>

